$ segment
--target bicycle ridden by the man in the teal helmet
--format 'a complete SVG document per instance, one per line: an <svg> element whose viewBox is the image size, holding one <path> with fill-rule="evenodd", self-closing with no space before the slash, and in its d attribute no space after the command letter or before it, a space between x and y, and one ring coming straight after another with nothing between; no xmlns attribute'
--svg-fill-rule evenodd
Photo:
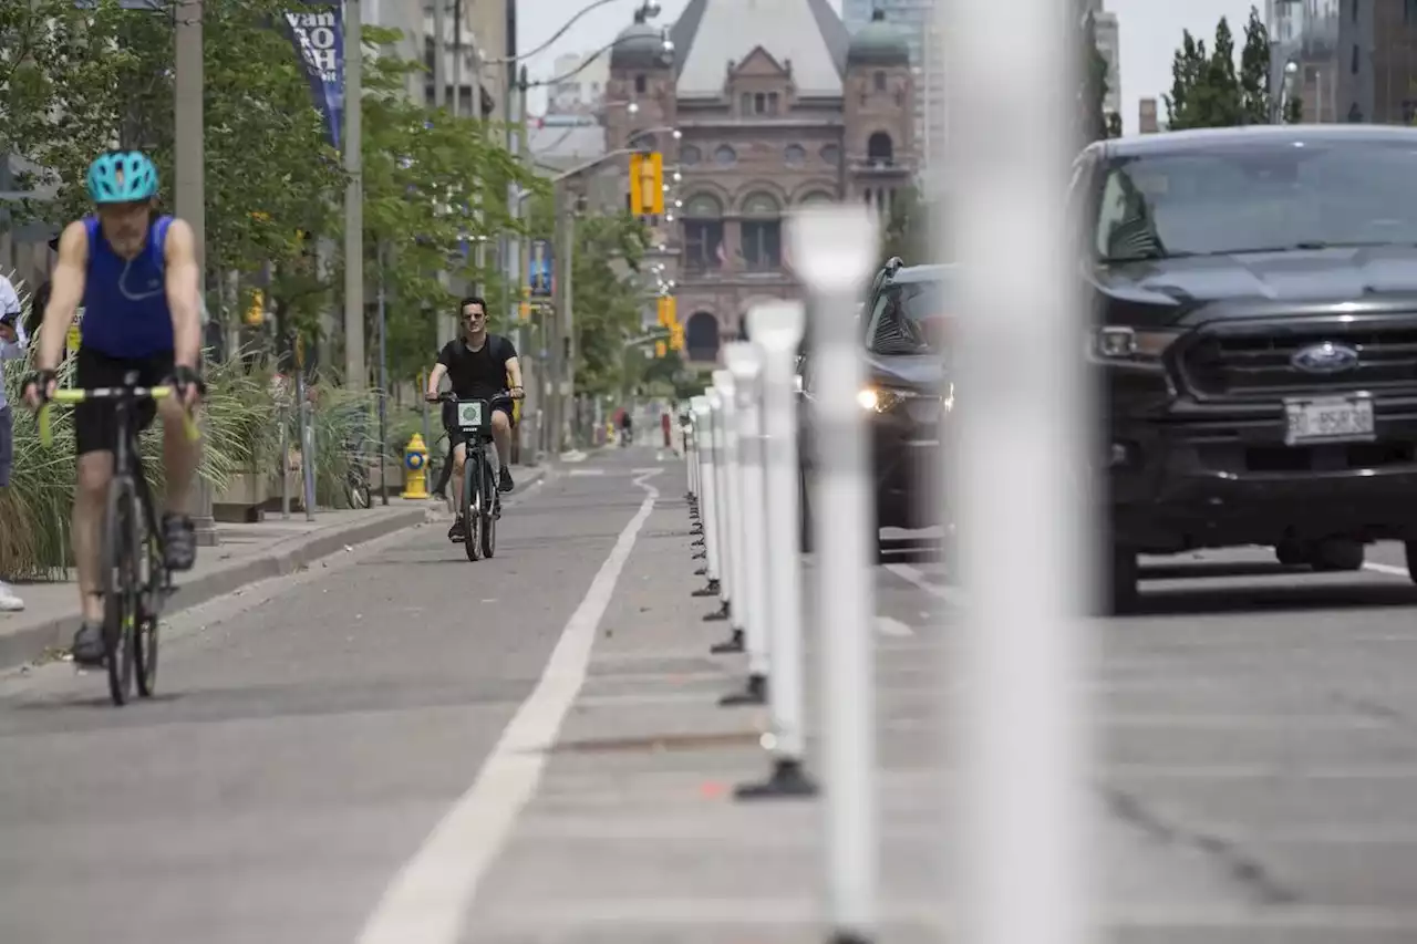
<svg viewBox="0 0 1417 944"><path fill-rule="evenodd" d="M113 704L125 704L137 682L137 693L152 697L157 686L157 626L163 604L173 592L171 571L163 529L153 505L152 488L143 472L137 425L139 404L173 395L171 387L139 387L137 371L123 377L122 387L55 390L40 408L40 442L50 448L54 432L50 405L77 405L112 400L116 410L118 442L113 449L113 478L108 486L99 557L103 590L103 663ZM190 415L187 435L201 435Z"/></svg>

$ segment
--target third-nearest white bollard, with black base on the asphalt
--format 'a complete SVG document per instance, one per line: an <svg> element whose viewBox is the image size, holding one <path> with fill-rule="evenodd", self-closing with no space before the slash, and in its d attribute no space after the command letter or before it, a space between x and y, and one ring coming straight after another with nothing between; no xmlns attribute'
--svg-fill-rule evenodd
<svg viewBox="0 0 1417 944"><path fill-rule="evenodd" d="M798 417L794 376L806 313L801 302L771 302L748 312L748 332L762 353L764 465L768 537L768 706L772 731L764 747L772 753L765 782L744 784L740 799L812 797L803 771L806 695L802 655L802 527L798 488Z"/></svg>

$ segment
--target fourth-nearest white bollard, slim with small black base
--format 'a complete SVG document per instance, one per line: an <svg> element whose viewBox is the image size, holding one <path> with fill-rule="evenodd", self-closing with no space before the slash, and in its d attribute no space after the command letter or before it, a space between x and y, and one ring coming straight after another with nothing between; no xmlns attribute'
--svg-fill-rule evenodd
<svg viewBox="0 0 1417 944"><path fill-rule="evenodd" d="M735 517L743 533L743 626L748 651L748 685L720 704L762 704L768 697L768 520L762 481L762 354L748 342L723 349L733 374L738 495ZM730 435L734 435L730 432Z"/></svg>

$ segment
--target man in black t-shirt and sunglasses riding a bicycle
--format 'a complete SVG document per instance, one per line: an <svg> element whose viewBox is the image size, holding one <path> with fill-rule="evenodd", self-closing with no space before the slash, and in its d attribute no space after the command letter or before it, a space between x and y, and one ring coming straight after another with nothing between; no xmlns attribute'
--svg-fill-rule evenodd
<svg viewBox="0 0 1417 944"><path fill-rule="evenodd" d="M517 360L517 349L510 337L487 333L487 303L480 298L465 298L458 308L462 316L462 337L444 344L438 363L428 373L427 398L436 403L438 386L448 377L452 393L459 400L492 400L506 384L510 384L512 398L521 400L526 391L521 388L521 361ZM468 438L458 428L452 404L444 404L442 421L452 446L452 493L458 496L462 495L462 476L468 462ZM512 472L507 469L514 425L512 407L506 403L495 404L492 441L497 446L497 462L502 465L497 475L499 492L510 492L514 488ZM466 523L459 515L448 530L448 540L459 541L466 536Z"/></svg>

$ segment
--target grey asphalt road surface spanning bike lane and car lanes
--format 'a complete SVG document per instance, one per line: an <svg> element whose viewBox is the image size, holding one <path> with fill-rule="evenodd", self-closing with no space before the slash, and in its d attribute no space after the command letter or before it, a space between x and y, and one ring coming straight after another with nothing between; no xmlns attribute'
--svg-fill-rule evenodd
<svg viewBox="0 0 1417 944"><path fill-rule="evenodd" d="M427 526L181 614L152 703L113 709L68 665L0 678L0 941L820 940L802 933L818 811L697 794L765 770L751 737L735 754L567 750L537 780L558 731L734 724L706 707L741 665L707 658L723 624L684 594L682 490L653 452L614 451L517 496L492 561ZM949 764L932 666L964 602L917 544L890 541L876 573L900 927L948 886L927 855L948 788L922 777ZM1396 549L1369 560L1156 561L1144 611L1102 624L1114 940L1417 940L1417 590Z"/></svg>

